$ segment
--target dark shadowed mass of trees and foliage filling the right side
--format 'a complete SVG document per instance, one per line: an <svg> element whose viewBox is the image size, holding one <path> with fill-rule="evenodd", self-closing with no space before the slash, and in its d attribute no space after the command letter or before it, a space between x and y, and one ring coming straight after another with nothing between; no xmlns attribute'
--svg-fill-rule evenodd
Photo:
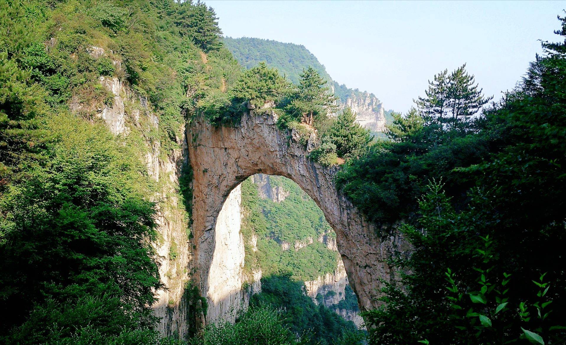
<svg viewBox="0 0 566 345"><path fill-rule="evenodd" d="M439 124L433 84L419 111L396 116L391 142L338 176L378 222L405 218L414 246L392 262L408 272L404 290L388 284L386 304L367 313L371 343L564 343L566 41L542 45L516 90L481 116L469 116L484 100L458 69L460 104L472 104L463 116Z"/></svg>

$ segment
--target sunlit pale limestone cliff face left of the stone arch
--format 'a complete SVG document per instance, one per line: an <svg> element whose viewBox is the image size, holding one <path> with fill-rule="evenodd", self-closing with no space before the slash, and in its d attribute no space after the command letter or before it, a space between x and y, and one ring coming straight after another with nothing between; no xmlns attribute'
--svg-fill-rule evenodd
<svg viewBox="0 0 566 345"><path fill-rule="evenodd" d="M91 47L89 53L93 58L106 56L104 49L97 47ZM113 63L117 69L121 68L120 61ZM160 125L157 114L148 107L147 99L137 95L115 77L100 77L100 84L112 92L112 105L97 107L74 97L70 110L74 113L94 113L116 135L140 135L131 133L134 127L139 130L137 133L141 133L144 147L140 148L140 158L147 164L148 175L162 186L153 198L158 202L155 219L158 240L153 245L158 254L160 279L167 287L156 291L157 302L153 309L155 316L160 318L157 329L166 336L186 334L188 306L183 299L183 292L193 263L187 238L185 206L180 205L177 194L181 168L187 163L185 131L180 131L179 148L164 155L161 142L145 136ZM128 107L125 107L126 103Z"/></svg>

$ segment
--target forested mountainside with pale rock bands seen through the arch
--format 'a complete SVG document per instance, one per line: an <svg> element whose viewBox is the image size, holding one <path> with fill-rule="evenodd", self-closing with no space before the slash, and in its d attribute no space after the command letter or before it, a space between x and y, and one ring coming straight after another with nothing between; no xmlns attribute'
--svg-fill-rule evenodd
<svg viewBox="0 0 566 345"><path fill-rule="evenodd" d="M287 275L316 303L362 324L338 254L336 233L292 180L256 174L242 183L242 235L248 281ZM263 286L263 284L262 284ZM273 292L272 292L273 293ZM348 301L345 301L348 299Z"/></svg>

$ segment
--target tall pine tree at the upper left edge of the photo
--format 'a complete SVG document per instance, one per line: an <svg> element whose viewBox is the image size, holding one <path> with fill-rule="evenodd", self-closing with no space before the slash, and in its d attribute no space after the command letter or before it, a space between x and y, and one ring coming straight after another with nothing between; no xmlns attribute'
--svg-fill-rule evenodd
<svg viewBox="0 0 566 345"><path fill-rule="evenodd" d="M31 31L19 1L0 1L0 188L22 165L40 161L49 135L39 128L48 111L45 90L19 66Z"/></svg>

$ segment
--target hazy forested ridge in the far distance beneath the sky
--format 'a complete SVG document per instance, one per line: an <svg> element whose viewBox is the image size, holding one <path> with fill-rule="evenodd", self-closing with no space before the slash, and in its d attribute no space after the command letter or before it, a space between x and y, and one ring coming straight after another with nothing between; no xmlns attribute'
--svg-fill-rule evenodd
<svg viewBox="0 0 566 345"><path fill-rule="evenodd" d="M323 65L318 59L309 52L305 46L293 43L283 43L273 40L254 39L242 37L233 39L225 37L226 48L232 52L242 66L251 69L265 62L267 66L277 69L279 73L289 79L292 83L298 84L301 80L303 69L312 66L320 76L328 82L328 86L334 88L334 93L342 102L346 102L349 97L355 96L361 99L363 92L352 90L344 84L333 81ZM374 97L371 93L370 96Z"/></svg>

